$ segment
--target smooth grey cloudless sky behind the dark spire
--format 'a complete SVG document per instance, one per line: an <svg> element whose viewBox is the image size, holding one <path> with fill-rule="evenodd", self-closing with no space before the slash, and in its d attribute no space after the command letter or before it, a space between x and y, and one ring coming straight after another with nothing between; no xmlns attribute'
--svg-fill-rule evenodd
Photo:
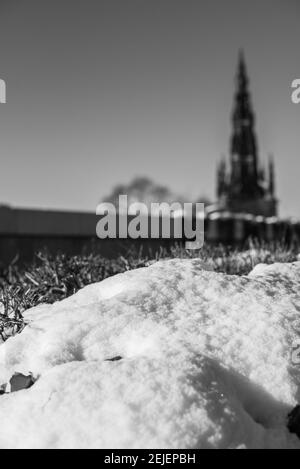
<svg viewBox="0 0 300 469"><path fill-rule="evenodd" d="M147 176L215 197L243 48L259 156L300 217L298 0L0 0L0 203L94 211Z"/></svg>

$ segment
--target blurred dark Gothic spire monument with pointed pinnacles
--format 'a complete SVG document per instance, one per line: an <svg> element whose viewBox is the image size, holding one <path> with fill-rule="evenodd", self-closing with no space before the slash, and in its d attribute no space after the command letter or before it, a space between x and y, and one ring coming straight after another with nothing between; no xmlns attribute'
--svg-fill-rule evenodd
<svg viewBox="0 0 300 469"><path fill-rule="evenodd" d="M243 54L240 53L232 113L229 165L223 158L217 169L217 211L277 215L274 163L269 159L267 174L258 157L255 116L248 89Z"/></svg>

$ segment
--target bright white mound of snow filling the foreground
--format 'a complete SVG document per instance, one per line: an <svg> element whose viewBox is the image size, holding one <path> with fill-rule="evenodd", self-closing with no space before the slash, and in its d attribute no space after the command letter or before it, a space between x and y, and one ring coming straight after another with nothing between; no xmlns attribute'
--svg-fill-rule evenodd
<svg viewBox="0 0 300 469"><path fill-rule="evenodd" d="M237 277L170 260L28 310L0 384L37 381L0 396L0 448L300 448L299 284L300 262Z"/></svg>

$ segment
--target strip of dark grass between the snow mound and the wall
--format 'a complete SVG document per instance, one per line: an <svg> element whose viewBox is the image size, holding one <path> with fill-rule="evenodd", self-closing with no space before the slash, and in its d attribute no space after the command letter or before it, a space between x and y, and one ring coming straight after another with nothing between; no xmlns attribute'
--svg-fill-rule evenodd
<svg viewBox="0 0 300 469"><path fill-rule="evenodd" d="M75 293L90 283L117 273L148 266L166 258L200 258L216 272L248 274L259 263L297 260L299 246L249 242L244 248L205 245L201 251L186 251L176 246L161 249L155 259L132 248L126 256L106 259L100 255L50 256L37 253L34 262L20 268L12 262L0 272L0 339L7 340L25 326L22 313L41 303L53 303Z"/></svg>

